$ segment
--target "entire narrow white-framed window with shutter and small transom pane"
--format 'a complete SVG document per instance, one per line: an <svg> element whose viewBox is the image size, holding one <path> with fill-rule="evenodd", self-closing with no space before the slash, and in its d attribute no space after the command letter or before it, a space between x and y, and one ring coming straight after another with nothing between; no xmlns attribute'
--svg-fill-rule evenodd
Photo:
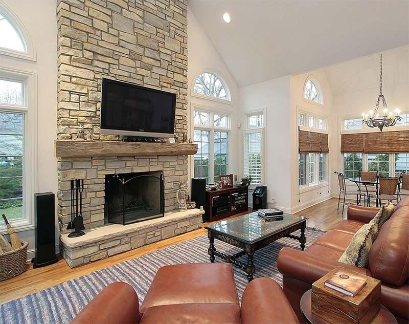
<svg viewBox="0 0 409 324"><path fill-rule="evenodd" d="M262 183L264 111L245 115L243 131L243 176L252 177L252 186Z"/></svg>

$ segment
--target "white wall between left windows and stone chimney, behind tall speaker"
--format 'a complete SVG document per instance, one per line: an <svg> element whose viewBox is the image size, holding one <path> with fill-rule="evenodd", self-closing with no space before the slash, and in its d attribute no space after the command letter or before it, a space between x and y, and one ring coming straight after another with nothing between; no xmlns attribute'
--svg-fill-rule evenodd
<svg viewBox="0 0 409 324"><path fill-rule="evenodd" d="M27 29L35 50L36 61L0 55L0 65L37 73L37 164L38 185L35 192L57 194L57 159L53 147L57 128L57 21L56 0L3 0ZM35 148L34 148L35 149ZM58 220L55 220L58 244ZM29 242L28 258L33 257L34 229L18 232Z"/></svg>

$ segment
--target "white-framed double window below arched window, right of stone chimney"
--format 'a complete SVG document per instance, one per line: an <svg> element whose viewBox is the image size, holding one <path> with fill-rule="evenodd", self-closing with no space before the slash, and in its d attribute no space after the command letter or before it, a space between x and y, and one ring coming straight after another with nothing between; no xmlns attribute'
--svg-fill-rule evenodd
<svg viewBox="0 0 409 324"><path fill-rule="evenodd" d="M230 116L195 109L193 124L193 141L198 146L193 156L194 177L213 183L229 172Z"/></svg>

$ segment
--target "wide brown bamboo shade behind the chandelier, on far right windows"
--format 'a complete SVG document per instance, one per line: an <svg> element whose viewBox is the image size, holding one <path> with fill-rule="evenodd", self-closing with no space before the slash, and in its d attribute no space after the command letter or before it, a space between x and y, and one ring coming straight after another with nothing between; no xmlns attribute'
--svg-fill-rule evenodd
<svg viewBox="0 0 409 324"><path fill-rule="evenodd" d="M342 134L341 153L409 153L409 131Z"/></svg>

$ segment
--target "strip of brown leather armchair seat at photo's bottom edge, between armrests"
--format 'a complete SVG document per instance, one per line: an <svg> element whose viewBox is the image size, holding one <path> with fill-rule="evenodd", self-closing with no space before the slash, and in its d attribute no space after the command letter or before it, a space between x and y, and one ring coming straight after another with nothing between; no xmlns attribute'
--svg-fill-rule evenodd
<svg viewBox="0 0 409 324"><path fill-rule="evenodd" d="M229 303L153 306L145 310L140 323L240 323L240 306Z"/></svg>

